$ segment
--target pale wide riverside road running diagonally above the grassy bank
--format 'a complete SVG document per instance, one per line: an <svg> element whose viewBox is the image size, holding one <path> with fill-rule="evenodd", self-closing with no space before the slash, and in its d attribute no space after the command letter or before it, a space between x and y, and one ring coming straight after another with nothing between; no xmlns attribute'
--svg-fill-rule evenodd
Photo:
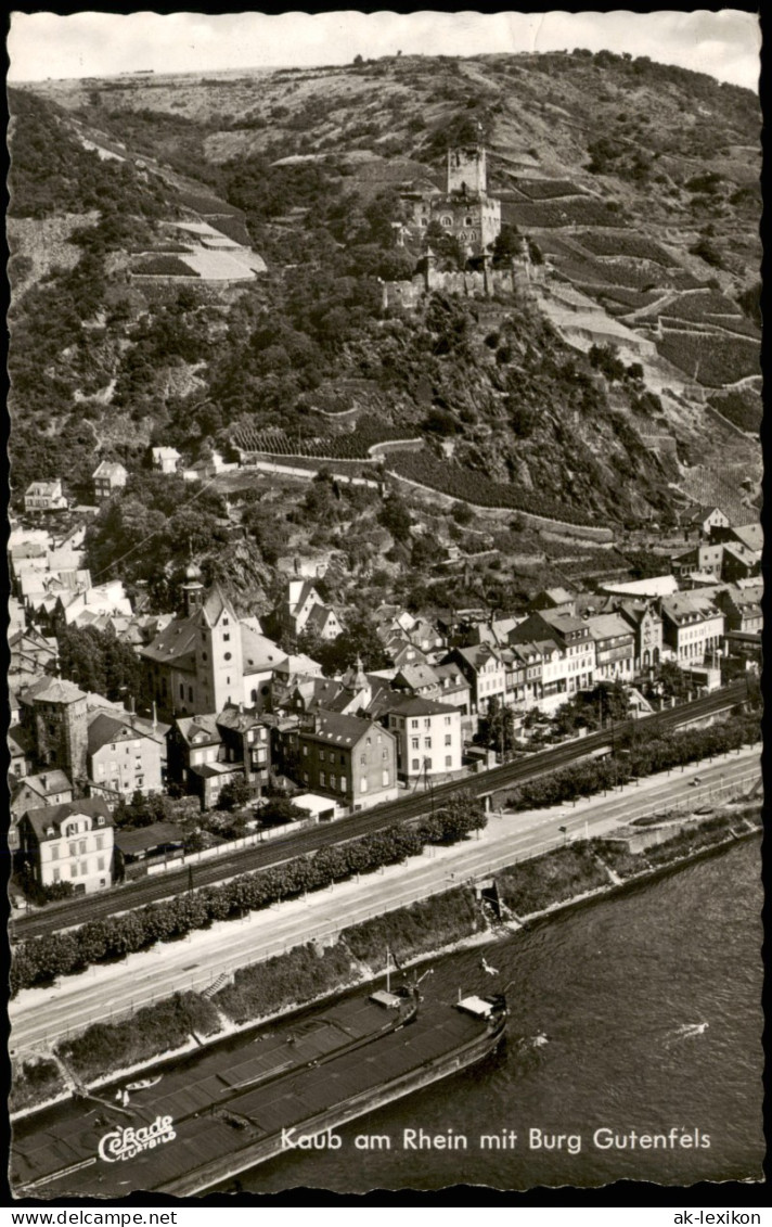
<svg viewBox="0 0 772 1227"><path fill-rule="evenodd" d="M69 1031L109 1021L113 1014L138 1009L178 990L201 990L223 972L315 937L333 937L342 928L535 856L573 837L602 836L634 817L679 802L705 804L718 798L719 789L725 795L739 780L750 787L760 771L759 752L745 750L711 766L627 784L608 798L593 798L575 807L491 815L479 838L426 849L407 865L391 865L359 881L314 892L306 899L252 912L243 920L216 923L185 940L130 955L121 963L64 977L53 989L26 989L10 1004L11 1049L18 1053L48 1045Z"/></svg>

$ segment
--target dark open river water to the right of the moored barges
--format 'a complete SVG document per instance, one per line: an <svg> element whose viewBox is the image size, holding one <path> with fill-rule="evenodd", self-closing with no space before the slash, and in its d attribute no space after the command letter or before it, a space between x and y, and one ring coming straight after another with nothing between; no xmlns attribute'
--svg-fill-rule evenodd
<svg viewBox="0 0 772 1227"><path fill-rule="evenodd" d="M363 1193L461 1182L528 1189L624 1178L761 1179L759 871L760 844L751 839L506 941L429 963L434 973L423 990L448 1002L458 988L490 993L512 982L505 1049L338 1130L339 1150L294 1151L243 1173L240 1187ZM482 968L480 952L498 977ZM463 1135L467 1148L404 1148L406 1129ZM632 1130L672 1129L701 1142L707 1135L710 1145L631 1148ZM593 1141L597 1130L608 1130L598 1135L602 1145ZM506 1148L480 1147L480 1135L502 1131ZM370 1135L388 1136L391 1150L357 1148L355 1139ZM538 1147L548 1135L566 1140ZM603 1146L616 1137L627 1145Z"/></svg>

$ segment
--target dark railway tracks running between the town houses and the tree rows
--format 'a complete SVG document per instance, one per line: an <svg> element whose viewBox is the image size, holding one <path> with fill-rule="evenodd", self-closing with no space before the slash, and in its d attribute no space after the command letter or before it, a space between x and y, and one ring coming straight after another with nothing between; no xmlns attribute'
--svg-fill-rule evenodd
<svg viewBox="0 0 772 1227"><path fill-rule="evenodd" d="M547 772L559 771L592 751L610 747L614 737L621 736L624 731L635 726L675 729L700 717L734 707L745 697L745 681L735 682L713 694L696 699L694 703L645 717L641 720L618 723L613 729L603 729L587 737L564 742L555 746L554 750L528 755L515 762L482 772L479 775L471 775L468 779L450 784L440 784L428 793L402 796L395 801L387 801L385 805L364 810L361 814L354 814L348 818L341 818L325 826L306 827L303 831L256 844L254 848L239 849L230 854L224 853L214 860L203 861L192 867L194 885L196 887L210 886L238 874L268 869L293 856L314 853L319 848L333 843L374 834L395 822L403 822L428 814L434 806L442 805L460 788L474 798L489 796L500 789L535 779ZM21 941L47 933L59 933L62 929L86 924L87 920L99 920L120 912L129 912L147 903L180 894L187 890L187 886L189 867L184 866L180 870L143 877L99 894L91 894L87 898L48 904L34 915L17 918L13 921L12 939Z"/></svg>

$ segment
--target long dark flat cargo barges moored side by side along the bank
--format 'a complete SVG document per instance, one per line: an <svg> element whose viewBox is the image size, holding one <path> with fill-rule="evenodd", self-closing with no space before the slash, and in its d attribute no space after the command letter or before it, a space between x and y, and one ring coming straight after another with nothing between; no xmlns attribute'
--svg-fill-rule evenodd
<svg viewBox="0 0 772 1227"><path fill-rule="evenodd" d="M460 995L461 998L461 995ZM506 1029L504 996L424 1000L418 985L336 1001L20 1121L15 1196L180 1198L480 1061ZM337 1145L333 1140L333 1145Z"/></svg>

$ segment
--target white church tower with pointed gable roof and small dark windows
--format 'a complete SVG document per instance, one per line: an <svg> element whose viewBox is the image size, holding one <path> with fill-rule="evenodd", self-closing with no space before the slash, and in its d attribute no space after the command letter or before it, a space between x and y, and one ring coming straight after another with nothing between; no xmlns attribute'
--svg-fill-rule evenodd
<svg viewBox="0 0 772 1227"><path fill-rule="evenodd" d="M219 584L195 615L197 710L222 712L243 699L241 627Z"/></svg>

